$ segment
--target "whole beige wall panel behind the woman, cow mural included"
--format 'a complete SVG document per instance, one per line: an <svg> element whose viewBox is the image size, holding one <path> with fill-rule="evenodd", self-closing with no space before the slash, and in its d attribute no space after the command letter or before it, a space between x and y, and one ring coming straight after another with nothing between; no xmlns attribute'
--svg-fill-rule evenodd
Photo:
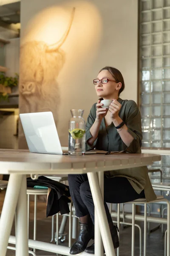
<svg viewBox="0 0 170 256"><path fill-rule="evenodd" d="M20 113L52 111L62 145L68 144L70 109L84 109L86 119L97 101L92 80L102 67L118 68L125 79L121 97L137 101L137 2L21 1ZM67 30L74 7L65 41L48 51Z"/></svg>

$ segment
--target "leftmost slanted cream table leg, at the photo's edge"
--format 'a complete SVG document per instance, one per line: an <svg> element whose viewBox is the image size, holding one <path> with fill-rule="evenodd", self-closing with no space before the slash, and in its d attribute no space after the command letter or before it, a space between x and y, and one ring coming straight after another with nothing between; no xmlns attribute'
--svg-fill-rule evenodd
<svg viewBox="0 0 170 256"><path fill-rule="evenodd" d="M14 220L22 178L22 175L16 174L9 176L6 196L0 216L0 256L6 256L8 239Z"/></svg>

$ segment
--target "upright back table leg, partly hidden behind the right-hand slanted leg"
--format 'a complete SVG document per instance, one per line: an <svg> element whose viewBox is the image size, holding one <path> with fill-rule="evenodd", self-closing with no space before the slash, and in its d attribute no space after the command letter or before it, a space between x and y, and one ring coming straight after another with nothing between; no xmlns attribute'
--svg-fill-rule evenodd
<svg viewBox="0 0 170 256"><path fill-rule="evenodd" d="M98 179L99 179L99 186L100 186L100 191L101 191L101 195L102 195L102 201L103 201L103 197L104 197L104 179L103 179L103 172L98 172ZM102 243L102 236L100 233L100 229L99 229L99 221L97 218L97 214L96 214L96 210L95 210L95 241L97 241L94 244L94 251L95 251L95 256L103 256L103 243Z"/></svg>

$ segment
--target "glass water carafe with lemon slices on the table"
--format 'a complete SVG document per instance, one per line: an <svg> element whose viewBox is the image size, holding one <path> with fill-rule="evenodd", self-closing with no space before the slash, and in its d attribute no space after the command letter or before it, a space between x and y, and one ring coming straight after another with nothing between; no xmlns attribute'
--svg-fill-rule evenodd
<svg viewBox="0 0 170 256"><path fill-rule="evenodd" d="M82 118L84 110L71 109L72 118L68 128L68 154L85 154L85 120Z"/></svg>

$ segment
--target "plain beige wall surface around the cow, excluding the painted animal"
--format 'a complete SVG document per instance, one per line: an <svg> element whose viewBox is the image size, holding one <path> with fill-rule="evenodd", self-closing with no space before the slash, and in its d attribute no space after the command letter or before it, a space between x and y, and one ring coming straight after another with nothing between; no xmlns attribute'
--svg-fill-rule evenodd
<svg viewBox="0 0 170 256"><path fill-rule="evenodd" d="M56 77L60 101L53 113L57 115L62 145L68 143L70 109L84 109L84 118L87 118L91 106L97 101L92 79L105 65L122 72L125 79L122 98L137 101L137 2L21 1L21 45L34 40L54 43L65 31L72 8L76 8L71 31L61 47L65 52L65 63Z"/></svg>

